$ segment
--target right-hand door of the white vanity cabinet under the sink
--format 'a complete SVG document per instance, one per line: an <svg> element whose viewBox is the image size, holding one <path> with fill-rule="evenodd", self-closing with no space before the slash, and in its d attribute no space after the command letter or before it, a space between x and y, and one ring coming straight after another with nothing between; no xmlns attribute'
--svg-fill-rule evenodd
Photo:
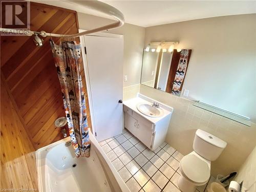
<svg viewBox="0 0 256 192"><path fill-rule="evenodd" d="M146 121L143 118L138 120L137 125L137 138L144 143L148 148L151 148L153 136L153 124L149 121Z"/></svg>

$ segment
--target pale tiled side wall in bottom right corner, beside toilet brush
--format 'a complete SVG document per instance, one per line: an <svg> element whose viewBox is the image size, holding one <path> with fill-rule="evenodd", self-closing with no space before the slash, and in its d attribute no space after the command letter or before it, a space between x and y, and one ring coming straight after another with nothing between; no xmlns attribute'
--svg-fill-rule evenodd
<svg viewBox="0 0 256 192"><path fill-rule="evenodd" d="M256 191L256 146L251 154L248 156L246 161L238 170L238 175L234 179L235 181L241 183L248 190L248 192Z"/></svg>

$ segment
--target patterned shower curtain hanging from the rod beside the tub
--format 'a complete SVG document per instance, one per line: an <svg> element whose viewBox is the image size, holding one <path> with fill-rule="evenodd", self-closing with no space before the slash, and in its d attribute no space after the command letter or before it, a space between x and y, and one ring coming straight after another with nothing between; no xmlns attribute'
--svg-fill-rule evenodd
<svg viewBox="0 0 256 192"><path fill-rule="evenodd" d="M80 74L81 46L75 41L60 42L60 45L56 45L50 40L50 44L75 155L90 157L86 102Z"/></svg>

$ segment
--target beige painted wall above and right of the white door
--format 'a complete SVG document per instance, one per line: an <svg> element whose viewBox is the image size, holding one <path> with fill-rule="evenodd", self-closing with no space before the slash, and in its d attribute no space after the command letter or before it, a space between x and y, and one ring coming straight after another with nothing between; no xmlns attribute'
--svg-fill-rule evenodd
<svg viewBox="0 0 256 192"><path fill-rule="evenodd" d="M80 29L89 30L113 22L114 20L111 19L78 12ZM123 86L127 87L140 83L145 28L124 24L121 28L109 30L109 33L123 35L123 74L127 75L127 81L123 83Z"/></svg>

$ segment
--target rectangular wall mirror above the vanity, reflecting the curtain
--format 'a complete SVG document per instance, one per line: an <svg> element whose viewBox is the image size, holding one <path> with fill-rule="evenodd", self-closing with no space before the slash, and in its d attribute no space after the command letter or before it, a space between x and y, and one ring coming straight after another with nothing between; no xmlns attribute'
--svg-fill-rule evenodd
<svg viewBox="0 0 256 192"><path fill-rule="evenodd" d="M141 84L180 96L191 49L143 51Z"/></svg>

